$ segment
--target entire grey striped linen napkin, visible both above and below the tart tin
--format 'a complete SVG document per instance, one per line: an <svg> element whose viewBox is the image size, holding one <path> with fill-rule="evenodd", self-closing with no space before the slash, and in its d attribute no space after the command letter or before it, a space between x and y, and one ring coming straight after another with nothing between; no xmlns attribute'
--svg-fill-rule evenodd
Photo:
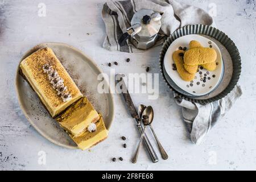
<svg viewBox="0 0 256 182"><path fill-rule="evenodd" d="M122 51L137 53L143 52L127 42L125 46L119 46L118 38L130 27L130 20L133 14L140 9L151 9L163 13L159 40L156 46L164 42L164 38L172 34L177 28L187 24L208 24L214 26L213 19L204 10L194 6L189 6L174 0L163 2L159 0L127 0L112 1L105 3L102 9L102 19L106 26L106 39L103 47L110 51ZM207 105L193 104L192 102L181 100L175 95L175 101L182 106L183 120L191 140L195 144L200 144L208 131L214 124L228 111L234 102L242 95L240 86L225 98Z"/></svg>

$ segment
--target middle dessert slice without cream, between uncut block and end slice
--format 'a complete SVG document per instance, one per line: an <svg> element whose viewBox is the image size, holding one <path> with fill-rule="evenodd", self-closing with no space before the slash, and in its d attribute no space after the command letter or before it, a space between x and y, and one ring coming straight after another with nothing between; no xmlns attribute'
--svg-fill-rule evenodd
<svg viewBox="0 0 256 182"><path fill-rule="evenodd" d="M92 104L86 97L82 97L59 115L56 121L73 137L79 137L90 123L95 123L98 119L100 117Z"/></svg>

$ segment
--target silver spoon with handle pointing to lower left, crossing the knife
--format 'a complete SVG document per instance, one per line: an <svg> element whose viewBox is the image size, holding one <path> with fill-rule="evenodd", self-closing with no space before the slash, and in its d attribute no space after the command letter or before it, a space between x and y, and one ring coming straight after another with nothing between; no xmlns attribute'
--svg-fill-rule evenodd
<svg viewBox="0 0 256 182"><path fill-rule="evenodd" d="M131 158L131 162L132 163L137 163L137 159L138 159L138 154L139 154L139 149L141 148L141 143L142 143L142 139L144 136L144 133L146 131L146 128L148 125L150 125L153 121L154 118L154 111L152 109L151 106L146 107L146 109L144 109L143 113L142 113L142 117L143 118L147 118L147 119L142 119L143 125L144 125L144 130L141 134L141 139L139 140L139 144L134 152L133 158Z"/></svg>

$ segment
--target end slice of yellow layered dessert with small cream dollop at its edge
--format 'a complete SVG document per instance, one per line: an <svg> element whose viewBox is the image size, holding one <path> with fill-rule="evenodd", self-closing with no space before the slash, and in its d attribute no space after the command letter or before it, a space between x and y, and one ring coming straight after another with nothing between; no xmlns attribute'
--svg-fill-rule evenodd
<svg viewBox="0 0 256 182"><path fill-rule="evenodd" d="M88 130L82 135L79 137L70 136L81 150L86 150L106 139L108 137L108 130L106 129L102 115L100 114L99 121L93 126L90 125Z"/></svg>

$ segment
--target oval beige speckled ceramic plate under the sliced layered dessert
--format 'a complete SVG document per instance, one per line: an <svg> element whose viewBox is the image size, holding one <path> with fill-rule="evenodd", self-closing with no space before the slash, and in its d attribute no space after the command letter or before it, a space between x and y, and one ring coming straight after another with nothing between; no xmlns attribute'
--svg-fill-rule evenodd
<svg viewBox="0 0 256 182"><path fill-rule="evenodd" d="M84 96L92 102L97 111L102 113L106 129L109 130L114 119L114 101L111 92L109 94L97 92L97 76L102 73L100 68L84 53L63 43L39 44L30 49L20 61L43 47L53 49L57 58L67 69L67 72L71 75L76 85L79 86ZM16 92L20 107L31 125L51 142L67 148L77 148L76 143L44 109L37 94L31 89L27 81L19 75L18 70L16 73Z"/></svg>

